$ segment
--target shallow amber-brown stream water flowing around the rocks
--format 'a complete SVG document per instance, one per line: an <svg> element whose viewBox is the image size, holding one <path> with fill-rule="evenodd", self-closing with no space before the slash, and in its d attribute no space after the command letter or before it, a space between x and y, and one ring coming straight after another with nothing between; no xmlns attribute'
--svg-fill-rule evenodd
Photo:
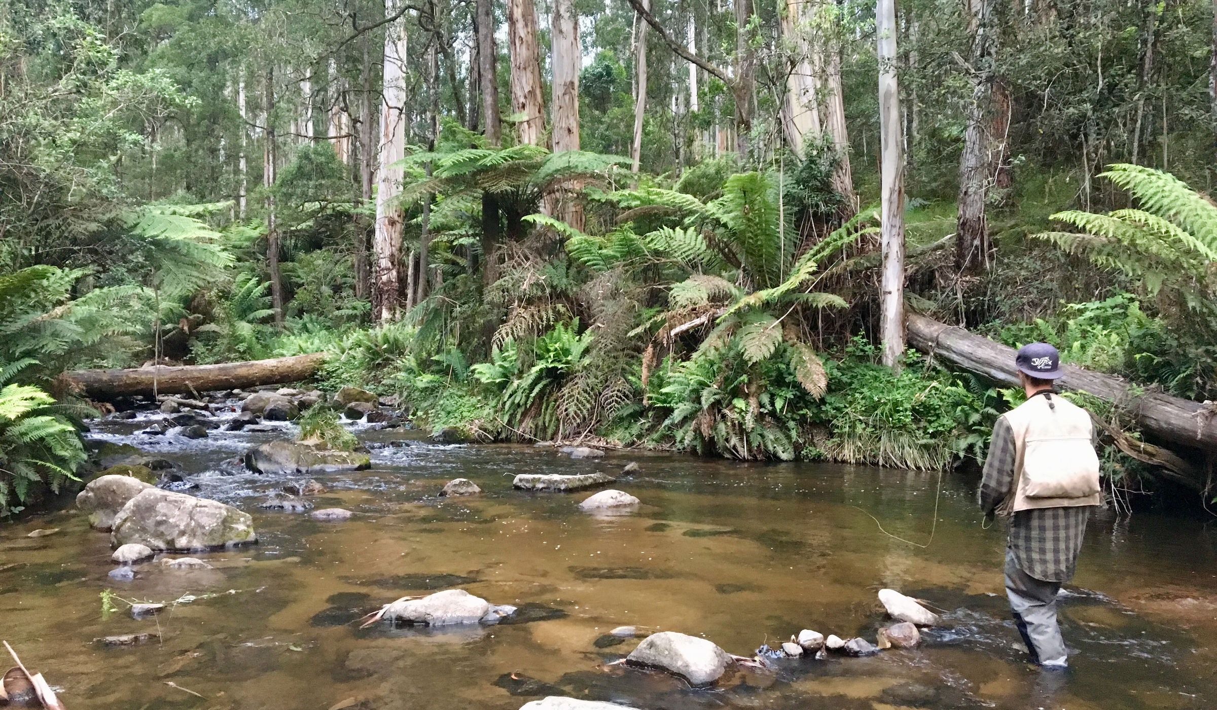
<svg viewBox="0 0 1217 710"><path fill-rule="evenodd" d="M273 431L186 440L103 421L94 436L133 443L178 466L190 491L249 511L259 543L198 553L213 569L135 568L107 576L108 535L73 510L0 527L0 636L72 710L516 710L544 695L639 709L892 708L1023 710L1217 706L1217 530L1139 514L1093 521L1062 628L1077 650L1067 675L1043 675L1016 647L1002 587L1000 526L982 530L975 481L947 475L936 537L924 541L937 479L823 464L740 464L679 455L572 460L551 449L441 446L372 431L372 468L314 475L316 508L344 522L258 508L285 479L231 459ZM515 474L639 473L613 487L641 499L628 515L582 513L583 493L511 488ZM444 499L450 479L482 496ZM860 510L859 510L860 509ZM35 529L52 535L27 537ZM638 643L607 631L705 636L752 655L801 628L875 639L876 591L930 602L943 624L913 650L869 658L784 659L713 689L606 664ZM406 594L461 588L523 611L517 622L452 630L352 624ZM168 603L135 620L102 592ZM174 603L176 602L176 603ZM157 633L105 647L99 637Z"/></svg>

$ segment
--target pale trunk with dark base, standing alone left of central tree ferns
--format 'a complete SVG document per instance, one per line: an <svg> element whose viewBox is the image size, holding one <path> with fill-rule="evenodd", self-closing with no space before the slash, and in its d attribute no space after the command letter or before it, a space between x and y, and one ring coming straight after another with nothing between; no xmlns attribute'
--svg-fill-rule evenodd
<svg viewBox="0 0 1217 710"><path fill-rule="evenodd" d="M393 13L393 5L385 7ZM385 32L383 102L380 117L380 152L376 166L376 231L372 255L376 259L372 279L372 318L393 320L400 312L402 297L402 208L393 203L400 189L403 170L394 166L405 157L406 94L405 21L397 19Z"/></svg>

